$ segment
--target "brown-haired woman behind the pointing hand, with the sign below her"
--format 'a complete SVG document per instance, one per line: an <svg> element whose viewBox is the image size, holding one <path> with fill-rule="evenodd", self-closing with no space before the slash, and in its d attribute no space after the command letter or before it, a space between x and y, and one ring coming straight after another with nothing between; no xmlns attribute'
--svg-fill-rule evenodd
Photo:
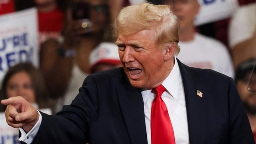
<svg viewBox="0 0 256 144"><path fill-rule="evenodd" d="M30 62L21 62L10 67L4 76L0 88L0 99L22 96L35 108L49 115L53 114L51 100L42 78L42 73ZM6 106L0 105L0 116L3 116ZM4 119L0 123L0 143L20 144L19 130L10 129Z"/></svg>

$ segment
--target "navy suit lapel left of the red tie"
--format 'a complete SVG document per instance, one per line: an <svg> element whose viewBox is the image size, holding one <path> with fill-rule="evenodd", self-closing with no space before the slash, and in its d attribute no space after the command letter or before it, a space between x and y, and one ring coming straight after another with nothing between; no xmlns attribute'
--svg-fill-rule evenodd
<svg viewBox="0 0 256 144"><path fill-rule="evenodd" d="M117 89L120 106L132 144L147 144L144 103L139 89L131 86L125 73ZM128 89L128 90L127 90Z"/></svg>

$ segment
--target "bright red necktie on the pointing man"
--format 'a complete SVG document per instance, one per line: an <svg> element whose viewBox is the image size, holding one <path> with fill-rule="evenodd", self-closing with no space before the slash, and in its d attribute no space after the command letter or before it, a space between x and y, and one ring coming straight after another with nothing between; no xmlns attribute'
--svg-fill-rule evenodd
<svg viewBox="0 0 256 144"><path fill-rule="evenodd" d="M152 89L156 97L151 108L151 142L152 144L175 144L173 126L165 102L161 95L166 91L163 85Z"/></svg>

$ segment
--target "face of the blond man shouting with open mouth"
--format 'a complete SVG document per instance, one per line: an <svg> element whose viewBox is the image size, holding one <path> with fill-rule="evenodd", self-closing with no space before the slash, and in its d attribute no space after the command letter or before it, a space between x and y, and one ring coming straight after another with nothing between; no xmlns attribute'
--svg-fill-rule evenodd
<svg viewBox="0 0 256 144"><path fill-rule="evenodd" d="M152 89L166 78L165 48L160 48L153 36L155 30L142 30L124 36L118 34L119 57L131 85L139 89ZM163 47L163 46L162 46Z"/></svg>

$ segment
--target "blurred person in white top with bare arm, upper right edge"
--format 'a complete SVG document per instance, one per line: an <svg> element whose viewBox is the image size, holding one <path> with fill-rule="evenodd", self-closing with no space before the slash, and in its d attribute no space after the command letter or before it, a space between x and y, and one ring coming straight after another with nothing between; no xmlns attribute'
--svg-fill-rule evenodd
<svg viewBox="0 0 256 144"><path fill-rule="evenodd" d="M256 58L256 2L239 7L228 27L229 48L236 69L241 62Z"/></svg>

